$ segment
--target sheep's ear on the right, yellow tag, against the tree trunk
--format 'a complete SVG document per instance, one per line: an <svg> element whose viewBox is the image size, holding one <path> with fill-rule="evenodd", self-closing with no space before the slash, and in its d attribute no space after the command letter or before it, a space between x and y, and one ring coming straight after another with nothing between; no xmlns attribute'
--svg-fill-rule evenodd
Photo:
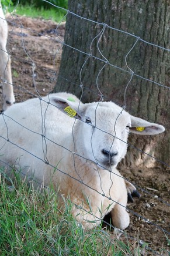
<svg viewBox="0 0 170 256"><path fill-rule="evenodd" d="M144 119L130 116L131 118L131 133L137 133L141 135L154 135L158 133L164 132L165 128L162 125L156 123L150 123L145 121Z"/></svg>

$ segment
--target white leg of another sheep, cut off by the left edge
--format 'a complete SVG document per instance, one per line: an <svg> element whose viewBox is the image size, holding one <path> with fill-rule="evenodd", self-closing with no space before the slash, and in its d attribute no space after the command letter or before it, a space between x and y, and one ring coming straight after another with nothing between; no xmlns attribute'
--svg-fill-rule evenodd
<svg viewBox="0 0 170 256"><path fill-rule="evenodd" d="M3 110L6 110L15 102L11 75L11 58L6 50L8 39L8 25L0 1L0 78L3 85Z"/></svg>

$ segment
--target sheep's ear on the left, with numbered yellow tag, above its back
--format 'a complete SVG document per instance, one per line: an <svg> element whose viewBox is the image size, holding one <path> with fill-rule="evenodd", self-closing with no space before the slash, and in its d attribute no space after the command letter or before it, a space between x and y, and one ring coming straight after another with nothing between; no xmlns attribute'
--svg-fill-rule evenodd
<svg viewBox="0 0 170 256"><path fill-rule="evenodd" d="M81 102L78 103L75 100L64 99L62 97L50 97L50 102L68 116L82 119L80 114Z"/></svg>

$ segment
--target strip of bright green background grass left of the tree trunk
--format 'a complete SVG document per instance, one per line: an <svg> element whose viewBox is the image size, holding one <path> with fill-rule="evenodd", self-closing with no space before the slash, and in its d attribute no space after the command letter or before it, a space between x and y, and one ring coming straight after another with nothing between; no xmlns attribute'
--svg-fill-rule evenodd
<svg viewBox="0 0 170 256"><path fill-rule="evenodd" d="M12 12L15 9L15 6L11 6L8 9L9 12ZM30 6L28 4L22 5L18 4L16 6L15 12L17 15L25 15L32 18L43 18L50 19L51 21L60 22L66 14L65 11L58 9L57 7L52 7L50 9L44 9L43 6L41 8L36 8L33 5Z"/></svg>

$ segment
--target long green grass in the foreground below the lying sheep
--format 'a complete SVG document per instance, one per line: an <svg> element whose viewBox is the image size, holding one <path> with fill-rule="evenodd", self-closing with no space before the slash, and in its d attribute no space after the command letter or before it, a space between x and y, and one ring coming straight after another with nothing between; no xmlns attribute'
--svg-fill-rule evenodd
<svg viewBox="0 0 170 256"><path fill-rule="evenodd" d="M18 176L9 186L3 174L0 184L0 255L141 255L101 227L85 231L69 201L58 210L53 190L35 191Z"/></svg>

